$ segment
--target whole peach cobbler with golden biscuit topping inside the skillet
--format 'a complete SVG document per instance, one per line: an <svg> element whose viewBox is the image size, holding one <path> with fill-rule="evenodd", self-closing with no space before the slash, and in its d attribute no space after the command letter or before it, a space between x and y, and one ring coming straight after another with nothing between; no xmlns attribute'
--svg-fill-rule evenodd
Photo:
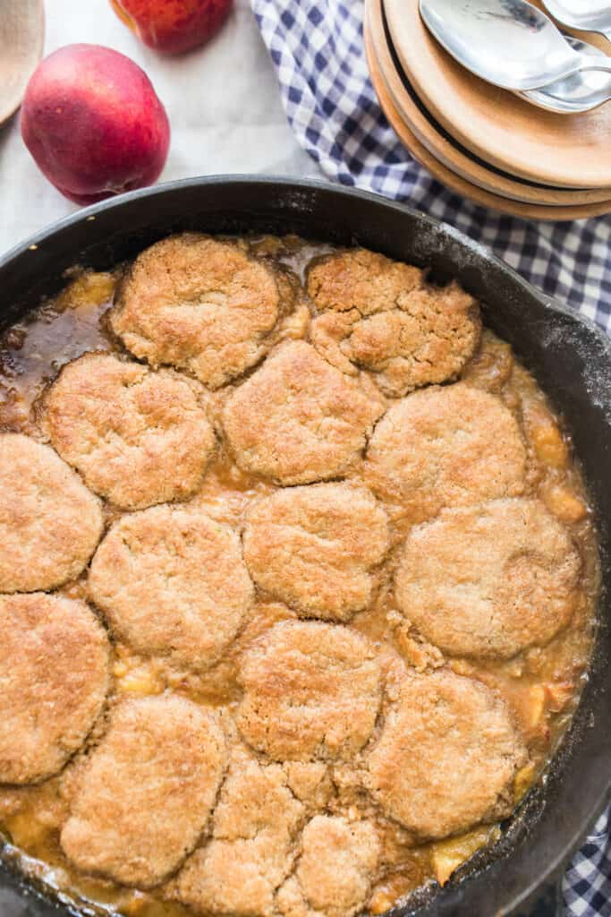
<svg viewBox="0 0 611 917"><path fill-rule="evenodd" d="M502 834L578 701L598 551L570 438L479 335L373 252L188 234L0 336L21 868L129 917L356 917Z"/></svg>

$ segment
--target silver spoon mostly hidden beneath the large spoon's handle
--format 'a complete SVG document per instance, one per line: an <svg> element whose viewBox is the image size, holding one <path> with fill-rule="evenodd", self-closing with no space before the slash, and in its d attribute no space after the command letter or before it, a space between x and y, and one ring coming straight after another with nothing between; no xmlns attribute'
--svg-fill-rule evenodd
<svg viewBox="0 0 611 917"><path fill-rule="evenodd" d="M597 57L604 56L603 51L595 45L575 39L572 35L565 35L564 38L576 51ZM533 105L547 111L559 115L574 115L577 112L588 112L611 99L611 76L595 71L573 73L572 76L543 86L542 89L531 89L529 92L516 95L521 95Z"/></svg>

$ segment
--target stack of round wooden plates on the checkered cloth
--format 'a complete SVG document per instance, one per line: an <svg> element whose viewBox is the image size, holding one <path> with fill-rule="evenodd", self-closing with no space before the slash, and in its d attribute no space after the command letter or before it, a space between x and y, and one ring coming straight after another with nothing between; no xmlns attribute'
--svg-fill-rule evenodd
<svg viewBox="0 0 611 917"><path fill-rule="evenodd" d="M366 0L365 39L388 121L440 182L518 216L611 213L611 102L556 115L485 83L432 38L418 0Z"/></svg>

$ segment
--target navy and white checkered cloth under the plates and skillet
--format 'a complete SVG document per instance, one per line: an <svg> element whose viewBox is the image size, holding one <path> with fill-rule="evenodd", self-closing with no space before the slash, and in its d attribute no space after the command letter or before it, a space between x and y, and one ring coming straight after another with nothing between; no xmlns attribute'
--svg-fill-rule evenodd
<svg viewBox="0 0 611 917"><path fill-rule="evenodd" d="M409 201L456 226L611 334L611 216L536 223L471 204L398 142L369 81L362 0L251 0L289 122L333 181ZM611 917L608 815L563 885L569 917Z"/></svg>

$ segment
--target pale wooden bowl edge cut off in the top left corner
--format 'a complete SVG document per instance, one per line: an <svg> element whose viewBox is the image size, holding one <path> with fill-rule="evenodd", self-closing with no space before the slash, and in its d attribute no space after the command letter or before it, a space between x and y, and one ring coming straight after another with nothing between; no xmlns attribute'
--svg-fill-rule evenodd
<svg viewBox="0 0 611 917"><path fill-rule="evenodd" d="M21 105L44 40L43 0L0 0L0 125Z"/></svg>

